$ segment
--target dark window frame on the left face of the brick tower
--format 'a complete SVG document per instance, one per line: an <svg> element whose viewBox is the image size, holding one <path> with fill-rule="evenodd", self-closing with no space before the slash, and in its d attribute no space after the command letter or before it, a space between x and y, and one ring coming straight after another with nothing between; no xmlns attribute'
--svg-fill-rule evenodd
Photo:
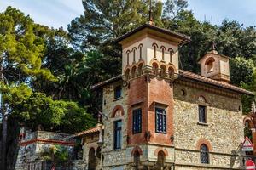
<svg viewBox="0 0 256 170"><path fill-rule="evenodd" d="M136 111L140 111L140 112L137 113ZM137 115L135 115L135 114L137 114ZM137 121L135 119L139 119L139 120ZM137 122L135 122L135 121L137 121ZM136 125L138 127L135 129ZM134 109L132 111L132 133L133 134L142 133L142 129L143 129L142 126L143 126L143 111L142 111L142 108Z"/></svg>

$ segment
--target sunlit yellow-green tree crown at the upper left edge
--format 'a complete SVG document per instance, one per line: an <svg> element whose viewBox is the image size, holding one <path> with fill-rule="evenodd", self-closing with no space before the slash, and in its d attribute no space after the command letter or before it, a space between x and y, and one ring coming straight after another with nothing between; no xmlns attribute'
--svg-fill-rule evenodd
<svg viewBox="0 0 256 170"><path fill-rule="evenodd" d="M37 75L53 80L49 70L41 69L44 42L35 35L33 20L11 7L0 13L0 20L0 63L4 63L5 81L26 81Z"/></svg>

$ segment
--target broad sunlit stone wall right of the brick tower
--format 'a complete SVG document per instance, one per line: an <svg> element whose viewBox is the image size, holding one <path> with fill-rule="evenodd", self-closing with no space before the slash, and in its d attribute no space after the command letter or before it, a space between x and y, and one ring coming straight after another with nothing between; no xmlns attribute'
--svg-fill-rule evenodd
<svg viewBox="0 0 256 170"><path fill-rule="evenodd" d="M206 99L204 105L207 105L207 123L199 122L200 97ZM175 161L180 166L186 164L206 166L176 169L209 169L211 166L219 169L242 167L240 144L243 141L243 122L239 106L241 108L239 98L212 94L199 88L189 88L175 83ZM207 144L210 150L209 165L200 163L201 144Z"/></svg>

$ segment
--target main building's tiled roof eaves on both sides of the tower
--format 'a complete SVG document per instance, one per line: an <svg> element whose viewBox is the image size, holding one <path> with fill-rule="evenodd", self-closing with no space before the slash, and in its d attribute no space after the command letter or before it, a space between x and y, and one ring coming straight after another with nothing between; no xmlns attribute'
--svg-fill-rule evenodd
<svg viewBox="0 0 256 170"><path fill-rule="evenodd" d="M189 78L189 79L192 79L192 80L195 80L195 81L198 81L198 82L204 82L204 83L207 83L207 84L211 84L211 85L217 86L219 88L227 88L227 89L236 91L236 92L241 93L241 94L254 95L253 92L250 92L250 91L248 91L246 89L243 89L243 88L236 87L235 85L232 85L228 82L220 82L220 81L217 81L217 80L213 80L212 78L202 77L201 75L195 74L193 72L179 70L179 75L181 77ZM99 82L96 85L92 86L91 89L101 88L102 86L105 86L105 85L107 85L111 82L115 82L115 81L118 81L118 80L122 80L122 75L110 78L110 79L108 79L104 82Z"/></svg>

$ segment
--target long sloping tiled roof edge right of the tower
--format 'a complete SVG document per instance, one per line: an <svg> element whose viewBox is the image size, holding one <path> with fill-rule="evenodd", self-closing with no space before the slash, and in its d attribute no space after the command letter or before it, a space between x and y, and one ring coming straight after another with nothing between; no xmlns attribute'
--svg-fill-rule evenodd
<svg viewBox="0 0 256 170"><path fill-rule="evenodd" d="M241 94L254 95L253 92L247 91L246 89L243 89L243 88L236 87L228 82L220 82L217 80L213 80L212 78L202 77L201 75L198 75L198 74L195 74L195 73L189 72L189 71L179 70L179 73L183 77L193 79L198 82L205 82L208 84L212 84L213 86L218 86L220 88L228 88L230 90L236 91Z"/></svg>

